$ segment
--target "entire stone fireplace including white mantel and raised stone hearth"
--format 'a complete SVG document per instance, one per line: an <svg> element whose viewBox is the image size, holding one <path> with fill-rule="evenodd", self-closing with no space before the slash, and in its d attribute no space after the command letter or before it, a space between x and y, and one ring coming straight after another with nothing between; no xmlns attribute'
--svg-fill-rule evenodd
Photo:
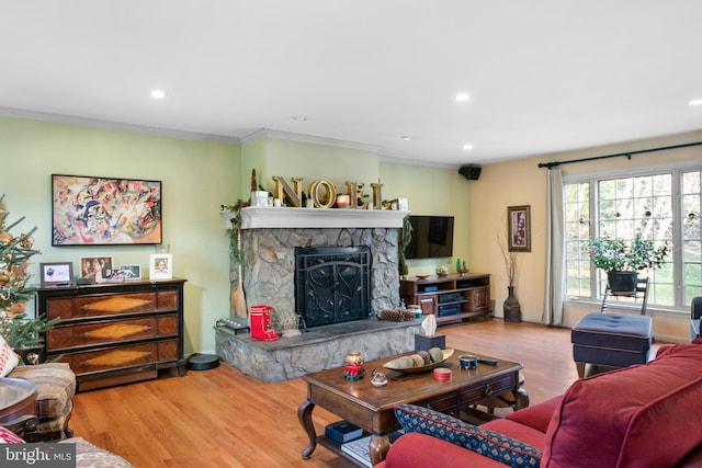
<svg viewBox="0 0 702 468"><path fill-rule="evenodd" d="M366 359L411 351L415 333L419 331L418 320L387 322L374 317L378 311L397 308L400 304L397 228L403 226L407 214L405 210L365 209L242 209L242 276L247 305L271 306L274 329L280 330L286 316L301 312L301 305L296 303L303 298L295 289L296 250L326 253L328 249L341 249L342 256L349 256L352 251L367 252L367 260L352 262L361 264L353 266L361 271L362 264L366 264L367 298L361 294L348 303L341 299L341 305L322 307L321 319L316 318L309 323L314 327L309 327L308 332L295 338L262 342L251 340L248 334L215 328L217 355L245 374L270 383L341 366L343 356L352 350L361 351ZM227 219L226 213L223 216ZM343 259L341 262L346 263ZM342 276L343 272L342 267ZM361 279L363 274L361 272ZM233 285L238 284L238 266L233 266L230 279ZM355 286L347 289L355 290ZM349 290L337 288L325 294L344 295ZM302 294L305 294L304 289ZM350 320L348 312L363 303L367 304L366 309L354 312L358 320ZM329 312L331 309L335 311ZM329 319L330 315L335 318Z"/></svg>

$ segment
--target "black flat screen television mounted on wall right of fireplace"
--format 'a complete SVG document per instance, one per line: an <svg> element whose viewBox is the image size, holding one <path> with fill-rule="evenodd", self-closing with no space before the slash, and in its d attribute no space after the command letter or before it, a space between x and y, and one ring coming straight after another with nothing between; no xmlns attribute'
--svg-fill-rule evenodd
<svg viewBox="0 0 702 468"><path fill-rule="evenodd" d="M405 248L406 259L453 256L453 216L410 216L412 240Z"/></svg>

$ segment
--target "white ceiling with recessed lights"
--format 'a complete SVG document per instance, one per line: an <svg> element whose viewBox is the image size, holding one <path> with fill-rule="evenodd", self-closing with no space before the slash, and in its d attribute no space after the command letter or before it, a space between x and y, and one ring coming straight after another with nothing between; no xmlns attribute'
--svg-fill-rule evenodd
<svg viewBox="0 0 702 468"><path fill-rule="evenodd" d="M0 0L0 111L488 163L701 129L701 19L699 0Z"/></svg>

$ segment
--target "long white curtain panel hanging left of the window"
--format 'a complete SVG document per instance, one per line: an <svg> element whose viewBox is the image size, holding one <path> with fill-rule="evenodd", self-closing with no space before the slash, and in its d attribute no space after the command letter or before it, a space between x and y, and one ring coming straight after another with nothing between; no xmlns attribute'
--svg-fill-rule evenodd
<svg viewBox="0 0 702 468"><path fill-rule="evenodd" d="M563 324L565 278L563 180L561 169L548 169L546 201L546 298L543 322Z"/></svg>

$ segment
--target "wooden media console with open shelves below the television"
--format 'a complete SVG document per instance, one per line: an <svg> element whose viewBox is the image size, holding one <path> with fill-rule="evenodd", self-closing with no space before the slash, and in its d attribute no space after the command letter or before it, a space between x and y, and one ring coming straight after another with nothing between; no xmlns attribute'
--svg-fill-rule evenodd
<svg viewBox="0 0 702 468"><path fill-rule="evenodd" d="M420 306L422 315L433 313L439 324L492 311L489 274L400 279L399 295L406 305Z"/></svg>

